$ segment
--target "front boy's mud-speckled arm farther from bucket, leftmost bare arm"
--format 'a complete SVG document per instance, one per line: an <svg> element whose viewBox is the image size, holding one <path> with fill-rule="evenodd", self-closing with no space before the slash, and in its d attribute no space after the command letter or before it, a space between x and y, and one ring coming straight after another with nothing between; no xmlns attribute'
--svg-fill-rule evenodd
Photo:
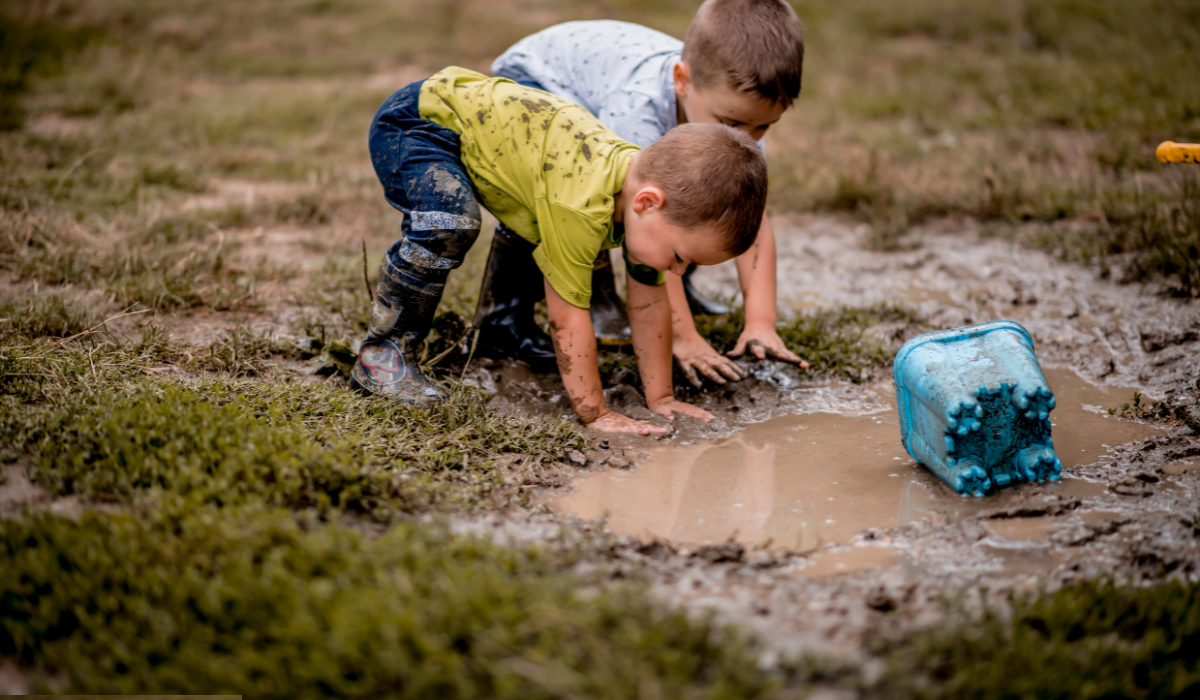
<svg viewBox="0 0 1200 700"><path fill-rule="evenodd" d="M600 385L600 369L596 365L595 329L592 327L592 315L587 309L568 303L547 281L546 310L550 312L550 335L554 341L558 371L563 375L563 385L571 400L571 407L584 425L601 432L635 435L670 432L666 427L634 420L608 409L604 388Z"/></svg>

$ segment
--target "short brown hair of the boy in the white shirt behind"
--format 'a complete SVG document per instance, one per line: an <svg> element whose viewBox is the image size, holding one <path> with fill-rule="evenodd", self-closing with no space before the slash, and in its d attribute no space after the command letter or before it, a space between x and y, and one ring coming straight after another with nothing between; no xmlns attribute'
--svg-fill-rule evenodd
<svg viewBox="0 0 1200 700"><path fill-rule="evenodd" d="M800 96L804 28L784 0L707 0L683 42L696 86L724 83L785 108Z"/></svg>

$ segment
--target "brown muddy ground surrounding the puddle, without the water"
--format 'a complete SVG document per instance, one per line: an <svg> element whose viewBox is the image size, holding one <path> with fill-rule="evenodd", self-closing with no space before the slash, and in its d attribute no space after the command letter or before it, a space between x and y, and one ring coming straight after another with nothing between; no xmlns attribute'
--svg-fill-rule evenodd
<svg viewBox="0 0 1200 700"><path fill-rule="evenodd" d="M901 252L864 250L863 229L835 217L787 217L779 231L780 295L796 309L901 299L934 328L1009 318L1031 331L1046 367L1073 371L1100 388L1138 387L1153 400L1177 405L1187 421L1159 420L1160 430L1153 430L1133 418L1106 417L1141 424L1154 436L1118 444L1111 436L1121 435L1121 426L1115 426L1085 438L1093 441L1091 456L1098 459L1068 466L1062 481L994 490L983 498L953 495L905 455L906 466L923 473L934 503L904 526L864 530L842 543L797 551L755 546L763 543L733 530L727 543L709 544L626 536L611 561L600 566L613 567L618 576L623 566L649 570L654 593L662 600L715 610L754 629L781 653L833 651L859 660L870 658L878 635L899 638L913 628L942 624L947 597L1000 603L1013 592L1055 590L1097 576L1133 585L1200 578L1193 520L1200 509L1200 406L1194 390L1187 391L1200 376L1200 306L1151 287L1099 279L1092 270L1019 244L983 238L971 222L944 221L914 231L908 250ZM725 268L704 270L701 279L713 291L728 292L737 283L736 271ZM920 330L880 329L898 339ZM589 451L581 474L636 471L647 453L666 459L671 450L664 447L672 442L727 441L749 424L815 411L886 415L892 419L888 449L902 454L894 408L888 405L894 391L888 377L858 385L828 384L806 381L778 363L745 366L754 378L701 400L720 417L718 425L682 421L674 436L659 441L598 436L590 444L607 449ZM504 363L487 366L486 377L482 370L478 366L473 376L481 382L491 378L494 402L533 415L562 412L552 378ZM1128 401L1130 394L1114 389L1110 396ZM635 401L626 401L623 388L611 389L610 400L636 414ZM752 408L738 411L738 406ZM1063 425L1063 418L1057 420ZM606 466L611 455L619 468ZM817 451L809 457L809 468L816 471L821 459L838 457ZM791 466L805 469L805 463L800 457ZM1064 463L1070 463L1066 456ZM847 471L846 477L853 474ZM546 495L547 501L556 498L563 497ZM766 504L768 511L770 507ZM473 532L494 527L505 537L538 540L560 537L560 516L546 514L463 527ZM871 662L863 669L870 680Z"/></svg>

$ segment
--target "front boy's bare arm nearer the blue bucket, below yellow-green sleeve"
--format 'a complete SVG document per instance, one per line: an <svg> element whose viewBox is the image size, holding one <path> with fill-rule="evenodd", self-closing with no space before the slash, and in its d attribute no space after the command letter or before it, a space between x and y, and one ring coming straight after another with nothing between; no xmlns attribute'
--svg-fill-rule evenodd
<svg viewBox="0 0 1200 700"><path fill-rule="evenodd" d="M668 275L673 276L673 275ZM676 401L671 377L671 300L666 286L643 285L626 277L629 325L634 331L634 354L642 375L646 405L674 420L674 412L708 423L715 415L691 403Z"/></svg>

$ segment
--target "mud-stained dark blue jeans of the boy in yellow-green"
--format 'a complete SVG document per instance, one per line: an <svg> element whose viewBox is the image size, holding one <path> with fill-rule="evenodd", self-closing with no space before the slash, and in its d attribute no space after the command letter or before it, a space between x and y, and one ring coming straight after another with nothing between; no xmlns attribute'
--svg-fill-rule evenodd
<svg viewBox="0 0 1200 700"><path fill-rule="evenodd" d="M458 133L422 119L418 109L424 83L384 101L367 143L384 197L404 215L388 259L426 285L439 285L479 237L480 215Z"/></svg>

